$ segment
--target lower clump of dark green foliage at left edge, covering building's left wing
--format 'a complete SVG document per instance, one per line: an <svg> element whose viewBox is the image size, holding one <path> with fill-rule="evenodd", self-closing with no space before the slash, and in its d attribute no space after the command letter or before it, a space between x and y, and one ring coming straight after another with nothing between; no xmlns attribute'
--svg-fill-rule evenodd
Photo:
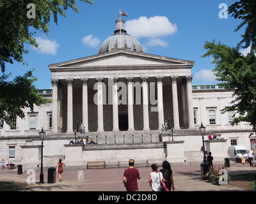
<svg viewBox="0 0 256 204"><path fill-rule="evenodd" d="M38 89L33 82L33 70L28 71L24 76L15 77L12 82L7 79L10 75L0 77L0 128L3 128L4 121L9 126L13 126L12 118L25 117L24 108L29 108L33 112L34 105L51 103L51 100L38 95Z"/></svg>

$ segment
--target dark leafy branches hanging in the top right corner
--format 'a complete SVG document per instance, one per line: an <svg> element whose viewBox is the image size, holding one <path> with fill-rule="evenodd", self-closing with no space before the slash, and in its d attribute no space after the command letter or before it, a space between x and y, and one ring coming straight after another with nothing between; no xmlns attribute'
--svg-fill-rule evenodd
<svg viewBox="0 0 256 204"><path fill-rule="evenodd" d="M239 31L241 27L246 25L243 39L238 43L238 47L248 48L251 46L251 52L256 50L256 1L255 0L241 0L232 4L228 8L228 13L232 13L232 17L243 20L236 28ZM243 43L245 43L243 45ZM242 46L243 45L243 46Z"/></svg>

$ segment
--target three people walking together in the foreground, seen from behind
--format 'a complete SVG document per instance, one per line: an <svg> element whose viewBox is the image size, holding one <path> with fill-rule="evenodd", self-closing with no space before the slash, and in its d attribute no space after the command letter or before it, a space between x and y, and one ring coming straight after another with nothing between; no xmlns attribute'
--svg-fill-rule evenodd
<svg viewBox="0 0 256 204"><path fill-rule="evenodd" d="M163 162L163 168L158 171L157 164L152 164L152 172L149 175L148 183L152 187L152 191L164 191L163 185L167 191L174 191L174 182L172 176L171 165L168 161ZM134 168L134 159L129 160L129 168L124 171L123 183L127 191L138 191L138 180L140 180L140 172Z"/></svg>

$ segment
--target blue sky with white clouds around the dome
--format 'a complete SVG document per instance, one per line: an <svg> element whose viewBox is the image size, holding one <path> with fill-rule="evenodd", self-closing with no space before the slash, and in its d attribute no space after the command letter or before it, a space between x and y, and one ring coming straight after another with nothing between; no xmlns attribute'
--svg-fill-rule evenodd
<svg viewBox="0 0 256 204"><path fill-rule="evenodd" d="M41 50L26 45L24 55L28 66L6 64L6 73L12 77L23 75L35 68L34 83L37 89L51 89L49 64L95 55L100 44L115 30L119 9L128 14L125 20L127 33L140 41L148 54L195 61L192 84L214 84L211 57L202 58L207 50L205 41L216 40L230 47L241 41L243 29L234 33L240 20L220 18L221 3L230 6L233 0L95 0L90 5L77 1L81 13L68 9L67 17L59 17L59 25L51 18L49 36L38 32L35 37ZM35 5L36 6L36 5ZM158 22L155 24L155 22ZM140 31L140 32L138 32ZM241 50L242 51L242 50Z"/></svg>

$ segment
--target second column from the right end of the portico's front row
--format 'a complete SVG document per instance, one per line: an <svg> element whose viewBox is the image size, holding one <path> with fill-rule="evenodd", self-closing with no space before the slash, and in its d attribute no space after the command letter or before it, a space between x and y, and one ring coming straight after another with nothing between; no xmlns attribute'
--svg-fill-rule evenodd
<svg viewBox="0 0 256 204"><path fill-rule="evenodd" d="M178 93L177 93L177 78L170 77L172 81L172 106L173 106L173 129L180 128L179 122L179 105L178 105Z"/></svg>

